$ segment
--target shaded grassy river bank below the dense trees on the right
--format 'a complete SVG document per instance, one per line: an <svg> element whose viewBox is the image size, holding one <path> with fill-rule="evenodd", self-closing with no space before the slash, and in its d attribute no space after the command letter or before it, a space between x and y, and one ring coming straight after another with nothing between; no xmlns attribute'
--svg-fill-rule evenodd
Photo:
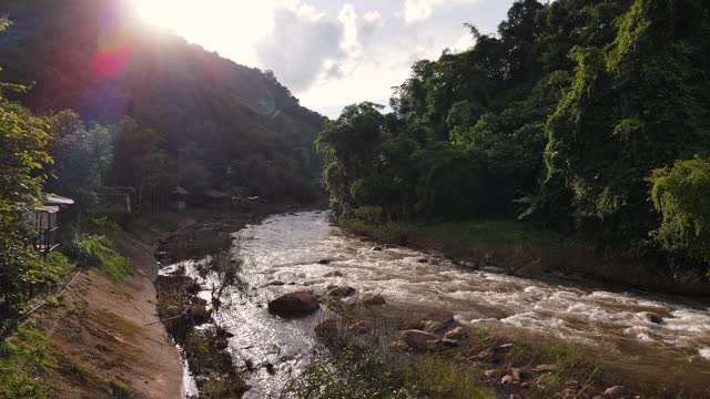
<svg viewBox="0 0 710 399"><path fill-rule="evenodd" d="M356 219L337 222L344 229L383 245L404 245L434 252L456 264L477 269L498 268L510 275L605 285L710 299L706 276L669 275L649 269L638 259L595 253L591 245L561 234L514 221L447 223L383 223Z"/></svg>

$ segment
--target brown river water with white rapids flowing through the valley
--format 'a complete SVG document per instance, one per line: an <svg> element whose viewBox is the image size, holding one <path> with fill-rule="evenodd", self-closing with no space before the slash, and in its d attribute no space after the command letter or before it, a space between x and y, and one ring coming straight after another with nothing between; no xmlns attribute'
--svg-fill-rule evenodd
<svg viewBox="0 0 710 399"><path fill-rule="evenodd" d="M322 293L341 284L361 296L379 294L388 304L445 308L465 325L524 329L587 344L607 361L637 372L673 371L692 381L710 381L708 304L470 270L403 247L373 250L373 243L332 226L325 212L275 215L239 235L250 294L230 293L215 318L234 335L230 350L235 361L255 370L247 398L280 396L307 362L315 345L313 328L327 311L281 319L267 313L267 301L294 290ZM322 259L331 262L320 264ZM662 323L650 321L649 314L663 317Z"/></svg>

